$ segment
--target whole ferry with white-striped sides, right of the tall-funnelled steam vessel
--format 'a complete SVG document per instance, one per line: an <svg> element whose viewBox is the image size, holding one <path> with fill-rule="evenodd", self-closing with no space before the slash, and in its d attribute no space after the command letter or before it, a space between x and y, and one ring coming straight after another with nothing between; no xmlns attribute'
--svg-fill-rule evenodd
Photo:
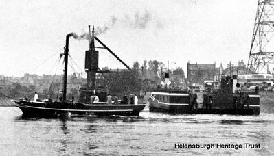
<svg viewBox="0 0 274 156"><path fill-rule="evenodd" d="M168 77L165 77L168 85ZM258 90L241 90L237 76L222 77L220 88L206 92L172 90L168 86L151 92L150 112L175 114L260 114Z"/></svg>

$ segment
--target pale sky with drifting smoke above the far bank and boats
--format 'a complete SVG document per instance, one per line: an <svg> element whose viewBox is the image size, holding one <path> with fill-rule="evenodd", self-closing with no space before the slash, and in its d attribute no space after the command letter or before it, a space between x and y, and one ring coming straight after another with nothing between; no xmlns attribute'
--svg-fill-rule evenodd
<svg viewBox="0 0 274 156"><path fill-rule="evenodd" d="M257 5L257 0L0 1L0 74L60 75L66 35L87 33L88 25L131 67L158 60L186 73L187 62L247 64ZM84 73L88 49L88 40L69 40L69 73ZM106 50L99 53L100 68L126 68Z"/></svg>

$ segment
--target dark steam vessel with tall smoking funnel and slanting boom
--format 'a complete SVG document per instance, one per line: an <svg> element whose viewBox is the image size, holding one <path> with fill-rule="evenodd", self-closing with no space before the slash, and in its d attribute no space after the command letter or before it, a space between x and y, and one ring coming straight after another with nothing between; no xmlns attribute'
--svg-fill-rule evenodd
<svg viewBox="0 0 274 156"><path fill-rule="evenodd" d="M65 69L63 77L63 90L60 101L30 101L29 99L14 101L14 105L19 107L23 116L61 116L61 115L98 115L98 116L109 116L109 115L121 115L121 116L139 116L146 105L144 104L110 104L106 103L107 91L98 89L95 86L96 73L102 71L98 68L98 51L95 51L94 40L97 40L105 49L113 54L120 62L122 60L117 57L105 44L103 44L96 36L94 36L94 27L91 35L89 27L89 51L86 51L85 58L85 70L87 71L87 86L80 88L80 101L74 102L67 100L67 64L69 55L69 38L76 34L71 33L66 36L65 53ZM101 47L102 48L102 47ZM130 68L122 62L130 70ZM99 96L100 102L89 103L90 97L93 94Z"/></svg>

